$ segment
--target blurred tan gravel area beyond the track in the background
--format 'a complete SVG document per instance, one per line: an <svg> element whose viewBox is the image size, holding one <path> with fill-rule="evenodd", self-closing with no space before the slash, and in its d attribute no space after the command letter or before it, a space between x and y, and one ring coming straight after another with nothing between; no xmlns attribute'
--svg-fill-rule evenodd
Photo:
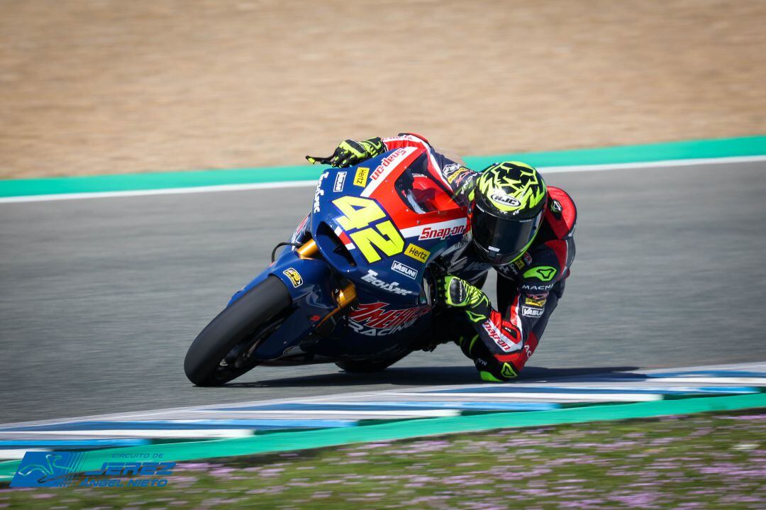
<svg viewBox="0 0 766 510"><path fill-rule="evenodd" d="M763 0L3 0L0 178L758 134Z"/></svg>

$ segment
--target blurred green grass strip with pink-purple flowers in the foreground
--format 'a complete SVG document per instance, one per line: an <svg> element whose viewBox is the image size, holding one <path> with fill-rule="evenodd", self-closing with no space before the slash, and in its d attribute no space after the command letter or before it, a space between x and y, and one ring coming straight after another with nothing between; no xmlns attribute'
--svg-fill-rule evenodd
<svg viewBox="0 0 766 510"><path fill-rule="evenodd" d="M0 508L760 510L764 441L766 409L496 430L183 463L161 489L2 489Z"/></svg>

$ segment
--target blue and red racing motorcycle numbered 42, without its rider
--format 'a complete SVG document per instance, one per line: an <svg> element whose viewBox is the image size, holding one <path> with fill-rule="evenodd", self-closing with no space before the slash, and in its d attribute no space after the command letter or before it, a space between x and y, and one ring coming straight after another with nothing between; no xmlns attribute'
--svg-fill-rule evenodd
<svg viewBox="0 0 766 510"><path fill-rule="evenodd" d="M189 347L189 380L217 386L257 365L380 371L424 348L440 260L468 227L466 208L425 175L427 158L403 148L326 169L291 242Z"/></svg>

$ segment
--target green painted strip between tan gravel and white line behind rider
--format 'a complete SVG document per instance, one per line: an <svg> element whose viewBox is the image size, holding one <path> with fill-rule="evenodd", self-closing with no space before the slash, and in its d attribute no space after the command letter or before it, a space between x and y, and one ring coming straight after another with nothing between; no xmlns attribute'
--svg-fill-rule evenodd
<svg viewBox="0 0 766 510"><path fill-rule="evenodd" d="M528 162L535 166L566 166L652 162L669 159L723 158L743 155L766 155L766 136L652 143L601 149L471 156L466 158L466 162L471 168L485 168L493 162L509 159ZM319 177L320 172L322 172L322 168L319 166L303 165L88 177L10 179L0 180L0 198L312 181Z"/></svg>

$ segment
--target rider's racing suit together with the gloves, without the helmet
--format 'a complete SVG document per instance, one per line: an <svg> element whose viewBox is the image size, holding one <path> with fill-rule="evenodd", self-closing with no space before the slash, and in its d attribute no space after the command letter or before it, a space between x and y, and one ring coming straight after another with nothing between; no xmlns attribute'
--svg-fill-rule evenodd
<svg viewBox="0 0 766 510"><path fill-rule="evenodd" d="M394 149L425 149L427 159L421 165L422 172L458 205L467 207L473 201L479 172L448 159L421 136L402 133L391 138L349 142L353 141L343 142L348 151L341 144L329 158L314 160L347 166ZM515 262L494 266L496 307L481 290L493 266L479 257L471 243L470 228L466 228L463 240L434 262L447 273L441 291L448 308L434 311L432 345L454 340L473 359L485 381L515 378L535 352L548 318L564 292L575 258L576 220L577 211L570 196L560 188L548 186L542 225L529 249Z"/></svg>

